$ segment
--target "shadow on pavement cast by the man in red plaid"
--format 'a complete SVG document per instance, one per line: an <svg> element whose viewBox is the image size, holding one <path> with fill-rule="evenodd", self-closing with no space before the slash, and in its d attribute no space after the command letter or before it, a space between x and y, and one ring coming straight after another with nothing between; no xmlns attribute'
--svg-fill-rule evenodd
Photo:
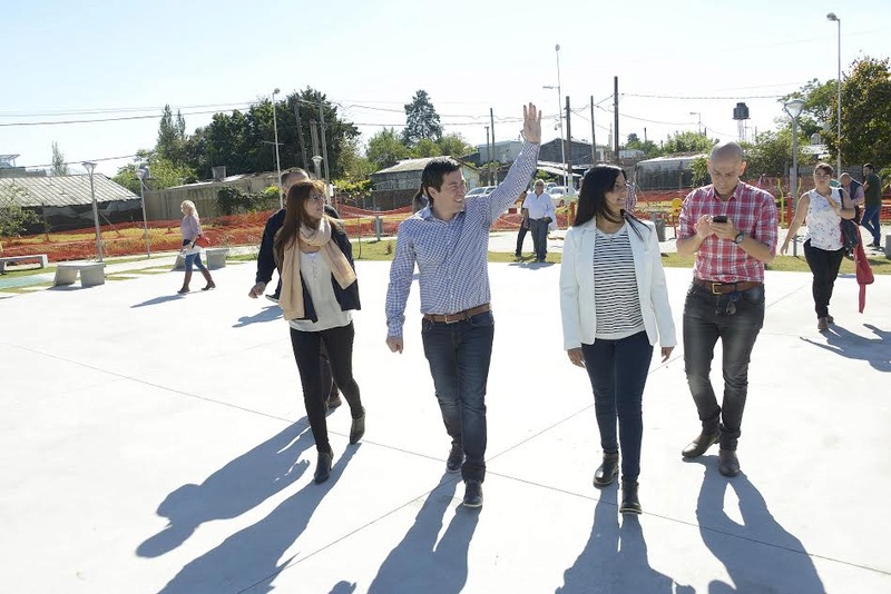
<svg viewBox="0 0 891 594"><path fill-rule="evenodd" d="M764 497L745 474L723 477L715 456L697 462L705 466L696 503L699 534L732 581L713 581L708 592L825 592L804 545L771 515ZM727 487L740 501L742 524L724 509Z"/></svg>

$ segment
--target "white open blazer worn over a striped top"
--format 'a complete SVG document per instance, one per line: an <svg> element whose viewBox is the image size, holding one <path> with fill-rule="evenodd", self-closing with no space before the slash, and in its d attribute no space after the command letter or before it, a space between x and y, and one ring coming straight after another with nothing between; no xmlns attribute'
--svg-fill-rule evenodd
<svg viewBox="0 0 891 594"><path fill-rule="evenodd" d="M664 347L675 346L677 345L675 323L668 304L668 288L665 284L656 227L649 221L643 222L646 227L635 225L643 239L637 237L631 224L626 225L634 255L644 327L650 345L658 341ZM597 329L597 313L594 307L596 228L595 219L580 227L570 227L564 240L560 265L560 313L564 324L564 348L567 350L578 348L582 344L594 344Z"/></svg>

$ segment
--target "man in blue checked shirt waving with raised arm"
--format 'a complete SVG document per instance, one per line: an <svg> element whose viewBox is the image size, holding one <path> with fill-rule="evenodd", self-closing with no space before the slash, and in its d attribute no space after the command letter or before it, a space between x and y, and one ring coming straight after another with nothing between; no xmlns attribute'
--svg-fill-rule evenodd
<svg viewBox="0 0 891 594"><path fill-rule="evenodd" d="M489 290L489 230L526 188L538 164L541 112L523 106L526 143L505 181L486 197L464 200L461 166L432 160L421 175L428 206L402 221L386 289L386 346L402 353L402 326L414 265L421 287L421 340L446 430L446 469L461 471L467 507L482 505L486 477L486 384L495 318Z"/></svg>

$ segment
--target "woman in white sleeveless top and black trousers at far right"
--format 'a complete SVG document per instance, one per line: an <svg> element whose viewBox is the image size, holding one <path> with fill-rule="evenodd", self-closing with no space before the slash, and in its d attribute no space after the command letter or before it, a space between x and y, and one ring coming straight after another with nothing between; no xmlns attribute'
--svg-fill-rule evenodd
<svg viewBox="0 0 891 594"><path fill-rule="evenodd" d="M823 331L834 324L829 315L829 301L839 276L839 267L844 257L840 224L842 219L854 218L854 206L848 192L831 187L832 166L821 162L814 167L814 189L799 198L795 218L789 226L786 238L780 248L781 254L789 250L789 241L807 219L807 236L804 240L804 257L813 275L812 291L816 310L816 329ZM842 176L844 177L844 176ZM843 185L843 184L842 184Z"/></svg>

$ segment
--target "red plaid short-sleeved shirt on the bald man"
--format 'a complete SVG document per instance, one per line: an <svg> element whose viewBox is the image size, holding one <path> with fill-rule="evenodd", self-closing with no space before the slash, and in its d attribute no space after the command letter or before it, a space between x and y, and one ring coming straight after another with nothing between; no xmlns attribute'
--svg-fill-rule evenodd
<svg viewBox="0 0 891 594"><path fill-rule="evenodd" d="M713 186L696 188L681 208L678 239L696 235L694 225L703 215L726 215L737 229L776 254L776 204L771 194L742 181L723 201ZM764 281L764 263L756 260L733 241L712 235L699 246L693 276L717 283Z"/></svg>

